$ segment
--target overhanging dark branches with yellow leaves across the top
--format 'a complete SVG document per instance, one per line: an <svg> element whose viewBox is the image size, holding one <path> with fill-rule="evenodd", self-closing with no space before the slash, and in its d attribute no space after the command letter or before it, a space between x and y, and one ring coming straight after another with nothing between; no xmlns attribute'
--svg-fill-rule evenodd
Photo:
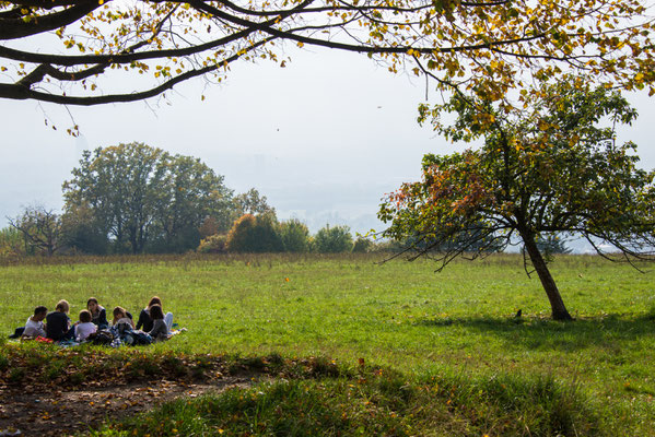
<svg viewBox="0 0 655 437"><path fill-rule="evenodd" d="M587 72L655 92L641 0L7 0L0 98L136 102L236 61L284 67L285 44L365 54L391 72L501 99L525 73ZM138 79L137 79L138 78Z"/></svg>

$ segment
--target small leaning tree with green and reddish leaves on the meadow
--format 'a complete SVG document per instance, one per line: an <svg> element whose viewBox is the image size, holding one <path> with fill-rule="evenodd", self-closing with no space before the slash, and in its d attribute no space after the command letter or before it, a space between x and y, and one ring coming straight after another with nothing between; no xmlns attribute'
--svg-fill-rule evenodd
<svg viewBox="0 0 655 437"><path fill-rule="evenodd" d="M615 125L636 117L619 93L572 78L525 91L522 98L519 113L461 94L435 108L436 116L457 115L449 126L435 119L447 139L483 138L484 144L425 155L422 180L389 194L378 216L390 222L386 237L414 238L414 257L436 258L440 270L458 256L482 255L480 241L506 247L521 239L552 318L570 320L537 241L549 233L575 233L608 259L652 259L655 173L636 167L634 144L616 142ZM616 252L606 252L606 245ZM434 253L433 246L447 249Z"/></svg>

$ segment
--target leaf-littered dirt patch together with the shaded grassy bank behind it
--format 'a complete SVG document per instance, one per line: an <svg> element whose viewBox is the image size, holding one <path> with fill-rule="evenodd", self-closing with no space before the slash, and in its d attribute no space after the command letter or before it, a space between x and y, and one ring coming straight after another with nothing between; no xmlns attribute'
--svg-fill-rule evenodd
<svg viewBox="0 0 655 437"><path fill-rule="evenodd" d="M174 400L248 387L267 378L339 376L328 358L0 346L0 436L62 436L97 428Z"/></svg>

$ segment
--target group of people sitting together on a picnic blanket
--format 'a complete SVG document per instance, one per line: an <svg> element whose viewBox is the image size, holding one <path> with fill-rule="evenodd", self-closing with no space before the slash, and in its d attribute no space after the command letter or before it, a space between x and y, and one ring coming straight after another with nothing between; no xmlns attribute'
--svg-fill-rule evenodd
<svg viewBox="0 0 655 437"><path fill-rule="evenodd" d="M120 345L149 344L167 340L172 334L173 314L162 310L162 299L153 296L139 314L137 324L132 315L122 307L114 308L112 323L107 312L95 297L86 300L86 309L80 311L80 320L71 323L67 300L59 300L55 310L48 312L44 306L34 309L25 327L15 330L10 338L38 339L47 342Z"/></svg>

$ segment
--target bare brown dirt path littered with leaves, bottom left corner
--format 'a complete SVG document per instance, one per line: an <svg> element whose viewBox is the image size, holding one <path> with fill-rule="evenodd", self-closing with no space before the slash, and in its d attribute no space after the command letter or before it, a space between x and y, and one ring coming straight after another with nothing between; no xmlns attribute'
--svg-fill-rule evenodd
<svg viewBox="0 0 655 437"><path fill-rule="evenodd" d="M250 378L226 377L211 382L172 380L118 382L114 387L84 387L74 391L43 388L0 388L0 435L68 436L96 428L179 397L196 398L231 387L248 387Z"/></svg>

